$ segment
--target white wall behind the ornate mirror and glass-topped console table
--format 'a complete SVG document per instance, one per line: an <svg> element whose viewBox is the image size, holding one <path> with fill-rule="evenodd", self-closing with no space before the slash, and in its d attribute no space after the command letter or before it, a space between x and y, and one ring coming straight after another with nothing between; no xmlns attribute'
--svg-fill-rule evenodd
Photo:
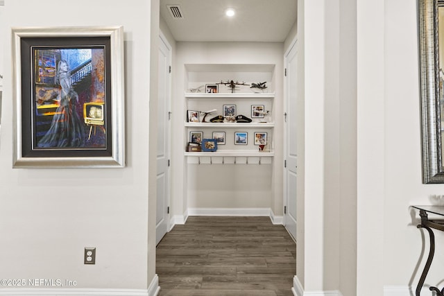
<svg viewBox="0 0 444 296"><path fill-rule="evenodd" d="M419 261L423 247L421 233L426 237L425 250L428 248L429 238L427 232L411 225L409 205L433 204L431 196L443 194L444 191L444 184L421 183L416 6L414 0L390 0L385 3L385 286L412 284L416 287L426 259L423 257ZM416 217L418 218L418 213ZM443 232L436 232L436 244L435 259L425 282L432 286L443 280ZM420 271L414 272L418 262Z"/></svg>

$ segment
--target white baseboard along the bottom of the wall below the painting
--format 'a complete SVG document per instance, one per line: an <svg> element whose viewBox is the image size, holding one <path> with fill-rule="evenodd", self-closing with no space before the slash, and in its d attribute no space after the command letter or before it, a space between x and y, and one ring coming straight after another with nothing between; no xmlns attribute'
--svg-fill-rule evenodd
<svg viewBox="0 0 444 296"><path fill-rule="evenodd" d="M157 289L156 289L157 290ZM147 290L136 289L44 289L44 288L18 288L0 289L2 296L155 296L148 294Z"/></svg>

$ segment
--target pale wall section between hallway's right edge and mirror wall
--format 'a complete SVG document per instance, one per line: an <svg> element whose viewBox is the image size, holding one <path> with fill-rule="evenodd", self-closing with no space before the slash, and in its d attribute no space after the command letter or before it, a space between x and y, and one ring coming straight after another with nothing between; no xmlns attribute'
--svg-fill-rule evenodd
<svg viewBox="0 0 444 296"><path fill-rule="evenodd" d="M298 165L296 275L305 293L356 295L356 12L350 2L298 1L304 98L298 156L304 162Z"/></svg>

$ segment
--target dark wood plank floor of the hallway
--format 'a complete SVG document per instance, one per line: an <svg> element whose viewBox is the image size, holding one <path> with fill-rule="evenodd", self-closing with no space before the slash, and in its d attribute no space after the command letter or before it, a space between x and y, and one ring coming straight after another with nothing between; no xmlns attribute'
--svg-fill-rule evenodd
<svg viewBox="0 0 444 296"><path fill-rule="evenodd" d="M189 217L157 245L160 296L293 295L296 244L268 217Z"/></svg>

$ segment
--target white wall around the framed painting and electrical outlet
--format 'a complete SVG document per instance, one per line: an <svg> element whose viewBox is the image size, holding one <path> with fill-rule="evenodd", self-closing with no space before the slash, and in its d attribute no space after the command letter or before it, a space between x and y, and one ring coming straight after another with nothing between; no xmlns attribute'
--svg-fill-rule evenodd
<svg viewBox="0 0 444 296"><path fill-rule="evenodd" d="M156 1L151 2L155 6ZM155 234L148 219L155 218L155 202L148 209L152 186L148 186L151 89L147 69L151 29L158 28L150 24L151 2L6 1L2 21L4 17L8 32L12 26L123 25L128 165L121 169L12 169L12 112L5 112L12 110L12 61L10 38L6 38L1 51L4 73L8 73L0 136L1 279L72 279L77 281L76 288L144 290L151 283ZM87 246L97 248L96 265L83 264Z"/></svg>

